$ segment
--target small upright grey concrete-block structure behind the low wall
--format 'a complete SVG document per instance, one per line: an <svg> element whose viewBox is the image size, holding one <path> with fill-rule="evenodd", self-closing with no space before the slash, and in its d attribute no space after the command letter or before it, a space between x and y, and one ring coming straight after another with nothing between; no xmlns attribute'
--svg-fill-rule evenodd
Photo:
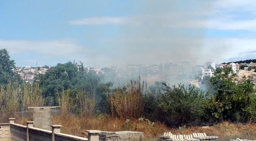
<svg viewBox="0 0 256 141"><path fill-rule="evenodd" d="M33 119L34 119L34 127L51 130L51 112L50 108L33 108Z"/></svg>

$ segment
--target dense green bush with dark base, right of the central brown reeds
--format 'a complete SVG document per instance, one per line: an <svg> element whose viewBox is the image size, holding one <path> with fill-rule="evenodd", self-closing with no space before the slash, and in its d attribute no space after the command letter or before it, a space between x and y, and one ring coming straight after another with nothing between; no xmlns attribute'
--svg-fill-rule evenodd
<svg viewBox="0 0 256 141"><path fill-rule="evenodd" d="M185 88L182 84L172 87L163 84L166 88L158 101L158 120L168 125L200 122L204 116L204 92L191 85Z"/></svg>

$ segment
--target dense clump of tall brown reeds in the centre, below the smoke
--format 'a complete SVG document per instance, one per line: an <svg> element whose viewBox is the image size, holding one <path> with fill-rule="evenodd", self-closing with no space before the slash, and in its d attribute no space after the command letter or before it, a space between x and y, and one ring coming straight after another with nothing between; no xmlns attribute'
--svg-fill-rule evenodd
<svg viewBox="0 0 256 141"><path fill-rule="evenodd" d="M143 113L143 85L140 78L131 80L127 85L127 90L117 88L109 94L109 108L112 117L121 119L139 118Z"/></svg>

